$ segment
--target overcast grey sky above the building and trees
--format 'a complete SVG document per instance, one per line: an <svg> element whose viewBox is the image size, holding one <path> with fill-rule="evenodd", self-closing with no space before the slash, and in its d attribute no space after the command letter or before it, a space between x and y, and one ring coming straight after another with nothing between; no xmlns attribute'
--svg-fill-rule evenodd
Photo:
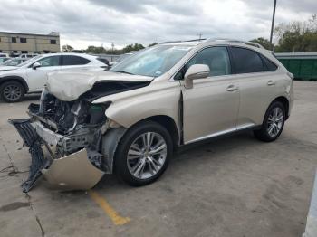
<svg viewBox="0 0 317 237"><path fill-rule="evenodd" d="M61 46L269 38L274 0L0 0L0 31L61 34ZM277 0L275 23L307 20L316 0Z"/></svg>

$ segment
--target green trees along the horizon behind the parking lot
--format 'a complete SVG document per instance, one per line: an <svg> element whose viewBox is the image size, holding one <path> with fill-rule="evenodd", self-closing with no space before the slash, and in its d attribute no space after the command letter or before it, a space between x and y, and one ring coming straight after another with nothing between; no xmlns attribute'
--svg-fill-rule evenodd
<svg viewBox="0 0 317 237"><path fill-rule="evenodd" d="M274 52L317 52L317 14L313 14L310 19L304 22L291 22L288 24L278 24L274 28L274 36L277 37L277 44L273 45L264 37L256 38L251 42L259 43L267 50ZM158 43L151 43L148 47ZM89 46L82 52L95 54L122 54L136 52L144 49L140 43L129 44L123 49L107 49L102 46ZM72 52L71 45L63 45L62 52Z"/></svg>

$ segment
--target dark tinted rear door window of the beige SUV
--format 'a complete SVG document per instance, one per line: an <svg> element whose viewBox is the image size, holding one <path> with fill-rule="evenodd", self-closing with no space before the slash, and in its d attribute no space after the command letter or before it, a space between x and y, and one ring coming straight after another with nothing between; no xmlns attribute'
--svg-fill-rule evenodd
<svg viewBox="0 0 317 237"><path fill-rule="evenodd" d="M235 73L265 71L263 62L256 52L238 47L232 47L231 52L235 64Z"/></svg>

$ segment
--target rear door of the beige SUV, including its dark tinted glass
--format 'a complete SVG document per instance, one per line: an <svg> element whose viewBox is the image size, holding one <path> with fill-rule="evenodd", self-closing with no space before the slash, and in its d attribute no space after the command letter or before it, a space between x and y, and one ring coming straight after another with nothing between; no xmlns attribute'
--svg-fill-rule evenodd
<svg viewBox="0 0 317 237"><path fill-rule="evenodd" d="M240 90L237 128L260 125L269 104L283 91L283 74L259 52L244 47L230 47L236 83Z"/></svg>

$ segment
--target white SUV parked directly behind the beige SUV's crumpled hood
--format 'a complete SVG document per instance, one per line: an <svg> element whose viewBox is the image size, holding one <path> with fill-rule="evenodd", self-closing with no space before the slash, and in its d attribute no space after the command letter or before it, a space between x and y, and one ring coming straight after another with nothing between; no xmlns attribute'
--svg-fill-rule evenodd
<svg viewBox="0 0 317 237"><path fill-rule="evenodd" d="M98 57L84 53L41 54L14 68L5 71L0 68L0 96L6 102L16 102L25 93L41 92L49 72L105 68L107 65Z"/></svg>

